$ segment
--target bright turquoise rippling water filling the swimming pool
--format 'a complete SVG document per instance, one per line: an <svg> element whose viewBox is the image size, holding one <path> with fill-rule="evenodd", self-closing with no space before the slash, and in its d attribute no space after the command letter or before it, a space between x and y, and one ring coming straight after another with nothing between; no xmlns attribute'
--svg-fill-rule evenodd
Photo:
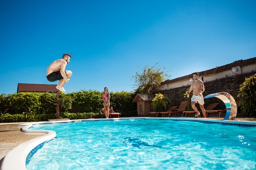
<svg viewBox="0 0 256 170"><path fill-rule="evenodd" d="M256 127L171 119L39 124L54 130L28 170L252 170Z"/></svg>

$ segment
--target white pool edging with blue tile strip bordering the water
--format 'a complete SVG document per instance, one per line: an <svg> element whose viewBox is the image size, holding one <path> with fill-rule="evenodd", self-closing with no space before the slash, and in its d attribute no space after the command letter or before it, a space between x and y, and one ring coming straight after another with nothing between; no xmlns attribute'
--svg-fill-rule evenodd
<svg viewBox="0 0 256 170"><path fill-rule="evenodd" d="M45 133L45 135L36 137L29 141L26 141L16 148L13 148L5 157L2 162L0 170L10 170L19 169L27 170L26 163L27 157L33 156L33 154L43 146L47 141L50 141L56 137L56 132L52 130L30 130L29 127L35 124L54 124L54 123L76 123L82 121L112 121L119 119L162 119L162 120L173 120L173 121L196 121L206 124L222 124L231 126L246 126L246 127L256 127L255 121L237 121L237 120L216 120L216 119L204 119L204 118L166 118L166 117L122 117L122 118L110 118L110 119L75 119L75 120L65 120L65 121L40 121L19 124L22 127L22 132L25 133Z"/></svg>

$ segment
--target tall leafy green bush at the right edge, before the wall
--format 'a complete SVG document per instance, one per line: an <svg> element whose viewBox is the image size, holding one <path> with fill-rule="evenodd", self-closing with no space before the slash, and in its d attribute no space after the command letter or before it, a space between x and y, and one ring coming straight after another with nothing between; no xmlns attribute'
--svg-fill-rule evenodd
<svg viewBox="0 0 256 170"><path fill-rule="evenodd" d="M239 93L240 107L245 116L256 116L256 74L245 78L245 82L240 85Z"/></svg>

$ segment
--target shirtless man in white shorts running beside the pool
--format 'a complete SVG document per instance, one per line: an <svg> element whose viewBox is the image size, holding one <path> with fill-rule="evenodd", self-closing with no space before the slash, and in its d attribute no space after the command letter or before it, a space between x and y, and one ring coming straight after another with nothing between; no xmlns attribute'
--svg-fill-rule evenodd
<svg viewBox="0 0 256 170"><path fill-rule="evenodd" d="M200 105L200 108L202 110L202 113L204 117L206 117L205 109L204 109L204 82L200 79L198 79L199 74L198 72L193 73L193 82L191 82L191 86L189 88L189 94L193 90L193 96L191 97L191 106L195 110L196 114L195 117L198 117L200 115L200 112L198 111L198 108L195 106L196 103ZM187 97L189 97L189 94Z"/></svg>

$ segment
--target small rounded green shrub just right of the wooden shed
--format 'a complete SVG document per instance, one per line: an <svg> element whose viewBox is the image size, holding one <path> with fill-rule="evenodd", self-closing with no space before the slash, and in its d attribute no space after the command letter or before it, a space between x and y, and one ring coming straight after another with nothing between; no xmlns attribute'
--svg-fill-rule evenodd
<svg viewBox="0 0 256 170"><path fill-rule="evenodd" d="M161 93L155 94L154 99L152 100L152 105L154 107L154 112L164 112L167 109L167 106L170 103L170 99L167 96L162 95Z"/></svg>

